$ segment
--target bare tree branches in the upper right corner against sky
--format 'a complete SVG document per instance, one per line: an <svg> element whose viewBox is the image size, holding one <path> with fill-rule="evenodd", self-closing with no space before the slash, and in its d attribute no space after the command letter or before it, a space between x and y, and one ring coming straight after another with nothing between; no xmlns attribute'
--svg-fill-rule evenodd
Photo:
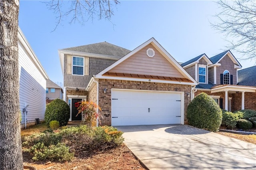
<svg viewBox="0 0 256 170"><path fill-rule="evenodd" d="M216 14L218 23L212 27L224 33L226 46L243 53L242 59L256 60L256 1L234 0L216 2L222 12Z"/></svg>

